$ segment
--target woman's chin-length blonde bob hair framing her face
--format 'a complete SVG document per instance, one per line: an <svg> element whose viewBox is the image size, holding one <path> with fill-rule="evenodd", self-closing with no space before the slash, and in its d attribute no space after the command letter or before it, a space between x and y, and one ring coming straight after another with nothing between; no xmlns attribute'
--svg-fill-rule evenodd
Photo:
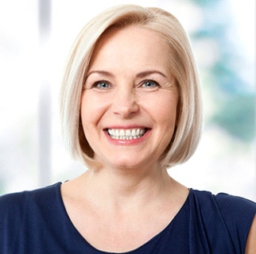
<svg viewBox="0 0 256 254"><path fill-rule="evenodd" d="M60 121L64 142L74 159L98 168L94 151L83 133L80 99L95 44L111 28L138 25L149 29L169 44L169 67L179 91L178 123L172 140L161 156L162 167L184 163L196 151L202 126L200 83L192 49L180 22L159 8L135 5L114 6L85 25L68 56L60 90Z"/></svg>

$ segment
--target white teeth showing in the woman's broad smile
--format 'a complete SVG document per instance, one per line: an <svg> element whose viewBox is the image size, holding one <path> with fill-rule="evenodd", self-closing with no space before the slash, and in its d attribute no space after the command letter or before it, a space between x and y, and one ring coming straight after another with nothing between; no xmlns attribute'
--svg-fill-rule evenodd
<svg viewBox="0 0 256 254"><path fill-rule="evenodd" d="M107 131L115 140L132 140L145 134L145 129L108 129Z"/></svg>

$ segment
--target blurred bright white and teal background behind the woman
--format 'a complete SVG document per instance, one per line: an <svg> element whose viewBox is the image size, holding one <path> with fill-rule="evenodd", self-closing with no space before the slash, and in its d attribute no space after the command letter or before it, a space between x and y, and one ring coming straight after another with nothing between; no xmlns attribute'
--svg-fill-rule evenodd
<svg viewBox="0 0 256 254"><path fill-rule="evenodd" d="M256 201L254 0L9 0L0 2L0 194L63 182L85 168L60 135L65 59L83 25L117 4L161 7L191 39L204 96L204 133L187 187Z"/></svg>

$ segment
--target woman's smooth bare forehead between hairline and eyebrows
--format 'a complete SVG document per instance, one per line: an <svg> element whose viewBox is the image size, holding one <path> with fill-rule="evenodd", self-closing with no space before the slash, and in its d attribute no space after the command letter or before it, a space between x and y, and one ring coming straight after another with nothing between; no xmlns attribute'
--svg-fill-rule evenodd
<svg viewBox="0 0 256 254"><path fill-rule="evenodd" d="M167 64L169 57L169 44L159 34L142 25L129 25L103 33L95 46L90 65L96 62L111 64L113 61L123 64L145 61L161 65Z"/></svg>

